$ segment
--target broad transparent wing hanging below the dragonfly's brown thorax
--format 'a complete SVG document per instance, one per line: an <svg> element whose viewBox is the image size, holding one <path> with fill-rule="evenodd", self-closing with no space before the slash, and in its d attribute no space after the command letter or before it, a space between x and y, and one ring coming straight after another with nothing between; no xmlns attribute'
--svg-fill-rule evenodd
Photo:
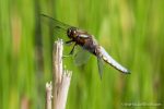
<svg viewBox="0 0 164 109"><path fill-rule="evenodd" d="M84 48L82 48L80 46L77 46L75 52L73 56L75 65L85 64L89 61L90 57L91 57L91 55L89 51L86 51Z"/></svg>

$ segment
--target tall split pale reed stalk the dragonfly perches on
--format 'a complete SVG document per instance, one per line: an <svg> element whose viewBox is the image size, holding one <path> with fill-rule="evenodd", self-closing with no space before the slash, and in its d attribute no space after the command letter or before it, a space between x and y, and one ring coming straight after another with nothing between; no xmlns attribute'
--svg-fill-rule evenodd
<svg viewBox="0 0 164 109"><path fill-rule="evenodd" d="M68 90L70 86L72 72L63 70L62 66L62 40L58 39L54 44L52 50L52 62L54 62L54 108L52 109L65 109L67 102Z"/></svg>

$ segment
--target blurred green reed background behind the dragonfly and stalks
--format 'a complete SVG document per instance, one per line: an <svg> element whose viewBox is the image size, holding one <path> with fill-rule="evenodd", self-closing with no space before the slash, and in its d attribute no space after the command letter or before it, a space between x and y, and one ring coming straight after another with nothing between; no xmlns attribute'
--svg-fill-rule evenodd
<svg viewBox="0 0 164 109"><path fill-rule="evenodd" d="M55 36L40 13L92 33L131 71L104 64L101 81L95 57L83 66L66 59L73 71L67 109L162 109L163 12L163 0L0 0L0 109L45 108Z"/></svg>

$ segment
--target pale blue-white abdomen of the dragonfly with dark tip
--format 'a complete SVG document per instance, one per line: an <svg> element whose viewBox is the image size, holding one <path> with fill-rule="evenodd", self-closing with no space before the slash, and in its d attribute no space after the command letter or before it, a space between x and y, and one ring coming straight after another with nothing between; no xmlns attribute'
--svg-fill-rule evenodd
<svg viewBox="0 0 164 109"><path fill-rule="evenodd" d="M112 66L114 66L116 70L122 73L129 73L129 71L122 65L120 65L115 59L113 59L103 47L101 47L101 53L102 53L103 60L107 62L108 64L110 64Z"/></svg>

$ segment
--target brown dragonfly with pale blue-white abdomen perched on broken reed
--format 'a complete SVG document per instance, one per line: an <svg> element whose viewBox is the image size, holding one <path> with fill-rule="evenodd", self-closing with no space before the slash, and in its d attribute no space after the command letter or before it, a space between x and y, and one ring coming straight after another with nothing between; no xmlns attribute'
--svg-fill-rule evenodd
<svg viewBox="0 0 164 109"><path fill-rule="evenodd" d="M103 75L103 62L106 62L121 73L130 74L129 70L119 64L114 58L112 58L112 56L96 41L94 36L89 34L86 31L65 24L45 14L42 14L42 17L44 19L44 21L50 24L54 29L56 29L56 33L62 33L65 36L68 36L70 40L66 41L66 44L74 44L69 55L73 55L75 47L80 46L82 48L82 51L78 52L79 56L77 55L77 57L84 56L84 52L87 51L97 58L101 78ZM80 58L77 58L78 62L85 60L84 58L81 58L82 60L78 59Z"/></svg>

